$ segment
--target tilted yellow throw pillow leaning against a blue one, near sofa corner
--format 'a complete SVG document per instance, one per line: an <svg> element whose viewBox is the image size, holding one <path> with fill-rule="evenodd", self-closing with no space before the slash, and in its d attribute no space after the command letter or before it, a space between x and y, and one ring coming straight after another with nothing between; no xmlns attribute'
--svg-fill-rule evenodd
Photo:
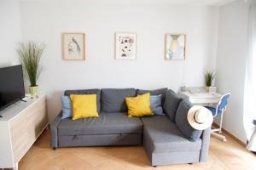
<svg viewBox="0 0 256 170"><path fill-rule="evenodd" d="M153 116L150 109L150 94L138 95L137 97L126 97L128 117L132 116Z"/></svg>

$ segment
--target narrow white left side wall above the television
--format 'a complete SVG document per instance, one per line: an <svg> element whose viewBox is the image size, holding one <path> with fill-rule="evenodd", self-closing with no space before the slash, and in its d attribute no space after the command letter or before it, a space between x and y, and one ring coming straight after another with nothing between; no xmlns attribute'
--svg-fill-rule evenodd
<svg viewBox="0 0 256 170"><path fill-rule="evenodd" d="M19 0L0 0L0 37L0 66L18 64L15 48L21 40Z"/></svg>

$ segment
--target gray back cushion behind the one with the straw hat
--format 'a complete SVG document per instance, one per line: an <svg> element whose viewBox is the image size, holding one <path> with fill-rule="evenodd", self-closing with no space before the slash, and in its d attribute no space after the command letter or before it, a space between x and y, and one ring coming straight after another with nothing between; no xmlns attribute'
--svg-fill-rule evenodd
<svg viewBox="0 0 256 170"><path fill-rule="evenodd" d="M175 122L175 115L177 111L177 107L181 102L182 97L178 96L175 92L171 89L167 90L166 92L166 100L163 105L163 109L167 116L170 117L172 122Z"/></svg>

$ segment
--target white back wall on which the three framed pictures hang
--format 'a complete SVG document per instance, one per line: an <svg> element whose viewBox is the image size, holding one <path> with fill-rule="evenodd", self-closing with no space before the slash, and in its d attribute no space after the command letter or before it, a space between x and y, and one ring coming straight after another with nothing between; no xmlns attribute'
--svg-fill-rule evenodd
<svg viewBox="0 0 256 170"><path fill-rule="evenodd" d="M22 1L23 40L45 42L38 84L48 94L49 118L60 95L75 88L172 88L203 86L216 61L218 8L154 1ZM86 60L61 59L61 33L86 33ZM114 60L114 32L137 32L137 60ZM166 32L187 34L187 59L164 60Z"/></svg>

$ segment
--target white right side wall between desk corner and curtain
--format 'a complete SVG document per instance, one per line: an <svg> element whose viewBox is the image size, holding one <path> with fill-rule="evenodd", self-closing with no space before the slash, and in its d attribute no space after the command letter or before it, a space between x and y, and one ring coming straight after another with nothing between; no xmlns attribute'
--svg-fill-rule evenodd
<svg viewBox="0 0 256 170"><path fill-rule="evenodd" d="M220 8L218 28L217 86L221 93L231 92L224 128L246 142L243 128L243 95L247 55L248 6L238 0Z"/></svg>

